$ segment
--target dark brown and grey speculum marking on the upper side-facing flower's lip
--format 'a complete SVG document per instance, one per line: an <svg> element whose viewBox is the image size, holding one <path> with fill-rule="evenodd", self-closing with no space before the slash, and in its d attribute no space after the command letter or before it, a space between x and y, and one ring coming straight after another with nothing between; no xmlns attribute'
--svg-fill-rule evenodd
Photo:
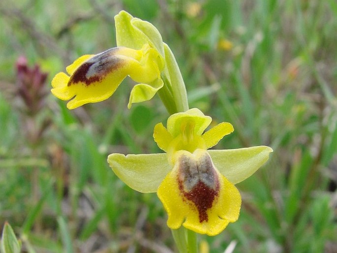
<svg viewBox="0 0 337 253"><path fill-rule="evenodd" d="M82 63L70 77L68 86L85 83L86 86L100 82L107 74L120 68L124 60L116 56L118 48L108 49Z"/></svg>

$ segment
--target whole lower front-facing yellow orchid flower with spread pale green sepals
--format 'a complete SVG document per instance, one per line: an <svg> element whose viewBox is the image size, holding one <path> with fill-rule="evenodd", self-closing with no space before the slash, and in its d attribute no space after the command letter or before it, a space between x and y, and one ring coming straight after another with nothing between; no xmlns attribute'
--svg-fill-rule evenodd
<svg viewBox="0 0 337 253"><path fill-rule="evenodd" d="M234 185L251 176L273 151L267 146L207 151L234 130L230 123L220 123L204 132L211 122L196 108L176 113L167 127L154 127L154 140L166 153L108 156L112 170L130 188L157 192L171 229L183 225L213 236L237 221L241 195Z"/></svg>

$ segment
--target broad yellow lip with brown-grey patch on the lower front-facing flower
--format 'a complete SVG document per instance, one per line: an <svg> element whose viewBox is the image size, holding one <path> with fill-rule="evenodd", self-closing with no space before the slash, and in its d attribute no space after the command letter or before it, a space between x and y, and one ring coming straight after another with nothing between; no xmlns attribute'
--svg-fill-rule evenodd
<svg viewBox="0 0 337 253"><path fill-rule="evenodd" d="M241 195L214 167L205 150L177 153L175 167L160 184L157 194L168 213L167 225L200 234L219 234L237 221Z"/></svg>

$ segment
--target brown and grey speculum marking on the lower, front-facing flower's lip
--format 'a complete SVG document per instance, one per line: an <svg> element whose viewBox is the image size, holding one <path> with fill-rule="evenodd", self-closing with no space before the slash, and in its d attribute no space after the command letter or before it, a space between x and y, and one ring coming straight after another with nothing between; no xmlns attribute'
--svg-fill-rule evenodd
<svg viewBox="0 0 337 253"><path fill-rule="evenodd" d="M208 221L207 210L219 192L219 181L209 155L204 154L198 160L183 155L179 159L178 185L183 196L197 208L200 223Z"/></svg>

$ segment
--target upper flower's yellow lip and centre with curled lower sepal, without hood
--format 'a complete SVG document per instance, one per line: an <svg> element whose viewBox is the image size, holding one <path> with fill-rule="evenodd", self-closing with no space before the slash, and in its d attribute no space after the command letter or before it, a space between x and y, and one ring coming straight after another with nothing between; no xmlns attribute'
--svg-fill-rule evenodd
<svg viewBox="0 0 337 253"><path fill-rule="evenodd" d="M151 99L162 88L160 71L164 67L156 49L144 44L140 50L127 47L111 48L97 55L84 55L58 73L52 80L51 92L69 100L68 109L109 98L126 76L140 83L133 87L132 103Z"/></svg>

